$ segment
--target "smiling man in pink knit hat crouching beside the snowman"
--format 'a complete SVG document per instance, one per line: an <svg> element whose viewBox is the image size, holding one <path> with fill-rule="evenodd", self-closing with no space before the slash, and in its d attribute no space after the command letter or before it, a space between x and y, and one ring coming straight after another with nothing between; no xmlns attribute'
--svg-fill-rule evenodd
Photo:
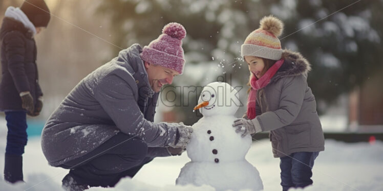
<svg viewBox="0 0 383 191"><path fill-rule="evenodd" d="M52 113L41 146L50 165L71 169L64 188L113 187L154 157L186 148L191 127L153 123L161 86L182 74L185 35L182 25L169 23L143 49L133 44L122 50L81 80Z"/></svg>

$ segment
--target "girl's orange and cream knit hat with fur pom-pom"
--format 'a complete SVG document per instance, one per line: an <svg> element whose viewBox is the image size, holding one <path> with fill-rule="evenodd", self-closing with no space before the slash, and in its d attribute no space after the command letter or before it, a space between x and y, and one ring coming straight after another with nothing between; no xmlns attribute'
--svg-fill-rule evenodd
<svg viewBox="0 0 383 191"><path fill-rule="evenodd" d="M283 31L283 22L270 15L260 21L260 28L251 32L241 46L241 56L256 56L279 60L282 56L281 41L278 37Z"/></svg>

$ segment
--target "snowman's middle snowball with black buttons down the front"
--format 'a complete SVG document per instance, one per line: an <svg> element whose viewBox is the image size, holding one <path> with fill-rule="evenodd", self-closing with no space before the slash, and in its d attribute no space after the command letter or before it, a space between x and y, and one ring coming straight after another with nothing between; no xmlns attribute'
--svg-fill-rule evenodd
<svg viewBox="0 0 383 191"><path fill-rule="evenodd" d="M233 115L202 117L193 127L192 138L186 147L192 162L231 162L245 158L251 137L241 137L231 126ZM235 137L235 138L234 138Z"/></svg>

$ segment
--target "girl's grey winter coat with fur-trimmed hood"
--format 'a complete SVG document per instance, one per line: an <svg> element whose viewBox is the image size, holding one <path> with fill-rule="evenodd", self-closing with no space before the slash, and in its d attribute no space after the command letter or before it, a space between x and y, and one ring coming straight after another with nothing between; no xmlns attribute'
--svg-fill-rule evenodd
<svg viewBox="0 0 383 191"><path fill-rule="evenodd" d="M270 131L274 157L295 152L324 151L322 125L316 102L307 85L308 61L284 50L285 62L270 83L257 91L256 120Z"/></svg>

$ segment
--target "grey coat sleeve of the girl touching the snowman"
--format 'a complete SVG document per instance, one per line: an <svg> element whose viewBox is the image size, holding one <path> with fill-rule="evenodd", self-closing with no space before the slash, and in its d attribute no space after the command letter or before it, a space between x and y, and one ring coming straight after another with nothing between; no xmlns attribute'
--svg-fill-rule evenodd
<svg viewBox="0 0 383 191"><path fill-rule="evenodd" d="M267 111L257 116L262 131L271 131L291 124L301 110L305 97L305 77L300 75L281 80L282 91L279 109Z"/></svg>

